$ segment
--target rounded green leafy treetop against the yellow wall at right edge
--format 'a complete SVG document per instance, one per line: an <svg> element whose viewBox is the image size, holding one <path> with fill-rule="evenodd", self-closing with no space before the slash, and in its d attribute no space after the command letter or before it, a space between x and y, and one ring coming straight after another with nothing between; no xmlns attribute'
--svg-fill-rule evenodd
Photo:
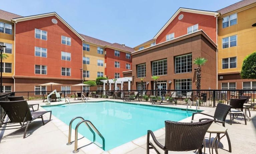
<svg viewBox="0 0 256 154"><path fill-rule="evenodd" d="M245 57L240 76L242 79L256 79L256 52Z"/></svg>

